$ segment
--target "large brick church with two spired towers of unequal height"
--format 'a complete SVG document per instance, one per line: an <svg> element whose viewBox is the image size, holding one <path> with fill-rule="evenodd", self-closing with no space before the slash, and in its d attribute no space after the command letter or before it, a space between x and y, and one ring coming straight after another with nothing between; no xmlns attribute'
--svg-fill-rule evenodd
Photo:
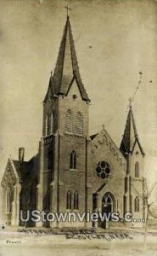
<svg viewBox="0 0 157 256"><path fill-rule="evenodd" d="M64 26L59 55L43 100L42 138L38 152L25 161L11 156L3 174L3 223L25 225L20 210L42 212L132 212L145 218L144 152L132 106L117 147L104 127L88 134L90 99L81 81L70 18ZM26 224L33 226L31 219ZM92 227L92 222L38 222L37 226ZM98 226L105 227L104 223Z"/></svg>

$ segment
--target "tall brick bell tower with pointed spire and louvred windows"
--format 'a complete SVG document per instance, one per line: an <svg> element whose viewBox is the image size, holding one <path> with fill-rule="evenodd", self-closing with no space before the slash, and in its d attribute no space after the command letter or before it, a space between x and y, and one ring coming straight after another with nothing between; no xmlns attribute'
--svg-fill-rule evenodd
<svg viewBox="0 0 157 256"><path fill-rule="evenodd" d="M59 55L43 101L37 186L41 211L85 211L89 102L67 15Z"/></svg>

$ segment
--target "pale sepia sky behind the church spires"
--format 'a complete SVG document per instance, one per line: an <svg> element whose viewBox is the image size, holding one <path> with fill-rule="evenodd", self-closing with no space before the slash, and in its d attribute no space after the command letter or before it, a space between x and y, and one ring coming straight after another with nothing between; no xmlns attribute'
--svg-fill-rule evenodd
<svg viewBox="0 0 157 256"><path fill-rule="evenodd" d="M117 146L132 103L149 180L157 179L157 1L0 0L0 163L36 154L42 100L70 4L76 54L90 106L90 134L104 124ZM89 47L90 46L90 47ZM142 72L140 79L139 72Z"/></svg>

